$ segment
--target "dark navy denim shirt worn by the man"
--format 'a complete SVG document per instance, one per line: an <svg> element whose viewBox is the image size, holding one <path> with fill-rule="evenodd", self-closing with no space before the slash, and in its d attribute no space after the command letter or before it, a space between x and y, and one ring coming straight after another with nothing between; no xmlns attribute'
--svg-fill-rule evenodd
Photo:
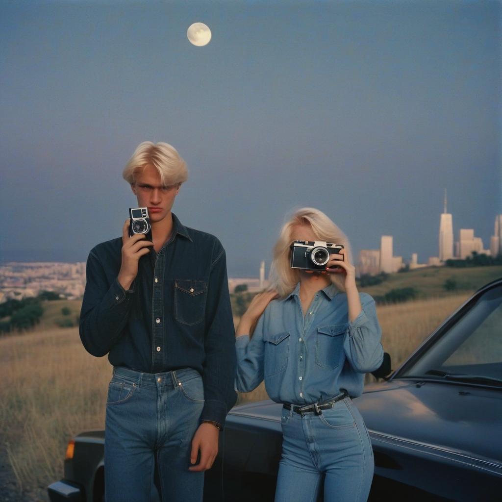
<svg viewBox="0 0 502 502"><path fill-rule="evenodd" d="M140 258L131 289L117 276L121 237L101 242L87 259L80 338L97 357L146 373L194 368L202 375L202 420L223 424L235 404L235 333L225 250L209 233L185 227L157 254Z"/></svg>

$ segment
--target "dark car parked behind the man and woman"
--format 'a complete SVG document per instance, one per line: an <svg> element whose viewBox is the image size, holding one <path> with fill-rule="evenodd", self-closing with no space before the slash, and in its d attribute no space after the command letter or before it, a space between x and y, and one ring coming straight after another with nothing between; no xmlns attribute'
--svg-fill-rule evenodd
<svg viewBox="0 0 502 502"><path fill-rule="evenodd" d="M501 500L502 279L478 290L354 404L374 452L369 500ZM230 411L205 502L274 500L281 407L261 401ZM72 441L50 499L101 501L104 434Z"/></svg>

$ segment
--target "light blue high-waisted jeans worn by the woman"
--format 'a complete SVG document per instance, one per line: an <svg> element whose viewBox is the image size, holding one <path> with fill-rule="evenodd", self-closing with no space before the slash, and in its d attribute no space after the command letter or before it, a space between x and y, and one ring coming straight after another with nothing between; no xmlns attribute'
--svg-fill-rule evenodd
<svg viewBox="0 0 502 502"><path fill-rule="evenodd" d="M314 502L324 478L325 502L364 502L373 478L373 451L349 397L321 415L282 411L283 448L275 502Z"/></svg>

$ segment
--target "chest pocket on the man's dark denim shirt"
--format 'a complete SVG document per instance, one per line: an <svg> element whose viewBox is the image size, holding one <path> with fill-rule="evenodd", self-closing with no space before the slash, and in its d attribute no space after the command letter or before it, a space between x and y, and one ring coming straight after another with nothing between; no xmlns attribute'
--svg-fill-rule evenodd
<svg viewBox="0 0 502 502"><path fill-rule="evenodd" d="M176 279L174 281L174 317L182 324L192 325L204 319L207 282Z"/></svg>

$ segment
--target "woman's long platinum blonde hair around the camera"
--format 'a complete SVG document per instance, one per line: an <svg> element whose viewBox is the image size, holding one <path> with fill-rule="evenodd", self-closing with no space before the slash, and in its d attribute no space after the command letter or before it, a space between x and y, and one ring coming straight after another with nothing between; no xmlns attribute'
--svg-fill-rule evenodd
<svg viewBox="0 0 502 502"><path fill-rule="evenodd" d="M346 235L319 209L302 207L293 213L281 228L279 239L274 246L274 259L270 269L270 289L275 289L281 297L289 295L300 281L300 271L291 268L291 235L295 225L309 224L319 240L343 244L350 263L352 256ZM344 279L338 274L329 274L331 282L339 291L345 291Z"/></svg>

